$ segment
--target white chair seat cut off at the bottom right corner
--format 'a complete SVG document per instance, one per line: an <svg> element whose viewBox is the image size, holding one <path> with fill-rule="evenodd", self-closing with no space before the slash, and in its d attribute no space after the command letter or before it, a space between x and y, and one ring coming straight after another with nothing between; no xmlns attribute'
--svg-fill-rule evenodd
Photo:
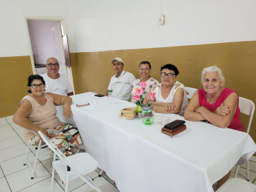
<svg viewBox="0 0 256 192"><path fill-rule="evenodd" d="M215 192L256 192L256 185L246 180L232 178Z"/></svg>

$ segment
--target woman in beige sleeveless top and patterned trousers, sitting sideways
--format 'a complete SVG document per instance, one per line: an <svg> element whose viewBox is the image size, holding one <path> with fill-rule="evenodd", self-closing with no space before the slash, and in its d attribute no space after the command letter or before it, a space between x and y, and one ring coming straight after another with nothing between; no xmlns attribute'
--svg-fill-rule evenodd
<svg viewBox="0 0 256 192"><path fill-rule="evenodd" d="M26 143L37 146L41 139L38 131L42 131L63 154L72 155L74 148L83 143L78 129L69 123L60 122L56 116L56 105L64 105L65 119L71 117L72 99L69 96L45 94L44 87L42 76L28 77L29 94L22 98L12 120L24 128ZM50 151L50 154L53 155L53 152Z"/></svg>

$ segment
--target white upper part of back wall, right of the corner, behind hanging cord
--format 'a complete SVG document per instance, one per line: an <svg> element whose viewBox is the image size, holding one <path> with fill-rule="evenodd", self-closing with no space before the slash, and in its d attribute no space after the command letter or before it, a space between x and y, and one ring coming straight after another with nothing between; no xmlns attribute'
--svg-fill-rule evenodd
<svg viewBox="0 0 256 192"><path fill-rule="evenodd" d="M69 0L69 6L76 52L256 40L255 0Z"/></svg>

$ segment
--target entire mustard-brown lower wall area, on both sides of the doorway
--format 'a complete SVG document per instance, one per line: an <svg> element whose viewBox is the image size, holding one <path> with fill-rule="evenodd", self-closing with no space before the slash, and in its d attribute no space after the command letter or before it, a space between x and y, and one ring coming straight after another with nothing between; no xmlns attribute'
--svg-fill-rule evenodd
<svg viewBox="0 0 256 192"><path fill-rule="evenodd" d="M139 78L139 62L148 60L152 64L151 76L160 81L160 67L175 64L180 75L178 80L186 87L200 88L200 71L216 64L223 69L225 87L234 89L239 96L255 102L256 41L177 46L155 49L133 49L101 51L92 53L70 53L76 94L93 91L105 94L114 70L110 60L123 58L126 71ZM0 118L12 115L17 105L27 94L27 79L32 73L29 56L0 58ZM247 127L248 117L241 115ZM256 141L256 119L250 136Z"/></svg>

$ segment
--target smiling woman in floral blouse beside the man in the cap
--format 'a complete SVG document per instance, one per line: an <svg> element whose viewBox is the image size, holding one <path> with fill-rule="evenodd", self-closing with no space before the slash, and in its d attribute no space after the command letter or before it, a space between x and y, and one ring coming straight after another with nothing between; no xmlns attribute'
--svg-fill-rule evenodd
<svg viewBox="0 0 256 192"><path fill-rule="evenodd" d="M155 87L155 85L158 85L158 81L154 78L151 78L151 64L150 62L143 61L139 64L139 74L142 76L142 78L138 78L133 82L133 90L131 93L130 101L133 103L136 103L137 101L133 99L135 96L135 89L139 89L140 82L146 82L146 88L144 89L145 96L151 92L151 89Z"/></svg>

